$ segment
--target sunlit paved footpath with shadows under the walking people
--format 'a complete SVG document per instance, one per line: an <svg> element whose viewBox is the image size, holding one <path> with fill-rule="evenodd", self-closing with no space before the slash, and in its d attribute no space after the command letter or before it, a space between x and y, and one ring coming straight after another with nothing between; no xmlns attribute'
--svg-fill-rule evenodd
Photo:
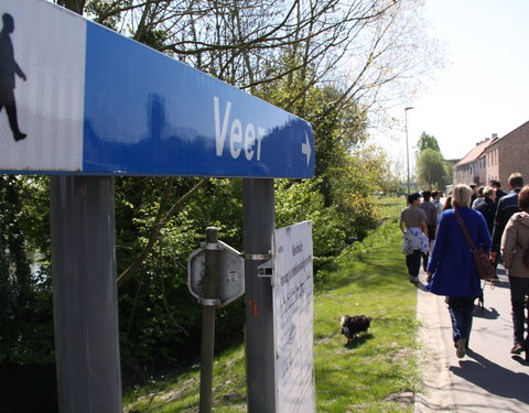
<svg viewBox="0 0 529 413"><path fill-rule="evenodd" d="M475 307L471 350L458 359L444 297L424 290L421 273L418 318L425 393L415 396L415 412L529 412L529 363L509 354L509 282L505 270L498 268L498 274L496 287L485 287L484 308Z"/></svg>

